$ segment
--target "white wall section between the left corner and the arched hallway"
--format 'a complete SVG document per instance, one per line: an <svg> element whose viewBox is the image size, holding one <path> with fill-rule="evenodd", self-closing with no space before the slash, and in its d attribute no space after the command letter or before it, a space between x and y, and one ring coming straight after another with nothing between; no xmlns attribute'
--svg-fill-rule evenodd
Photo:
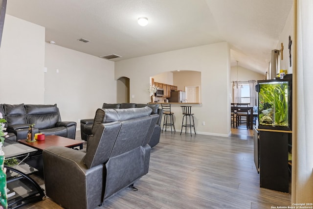
<svg viewBox="0 0 313 209"><path fill-rule="evenodd" d="M58 104L62 120L93 118L104 102L116 102L114 62L45 44L45 104ZM57 72L59 70L59 72Z"/></svg>

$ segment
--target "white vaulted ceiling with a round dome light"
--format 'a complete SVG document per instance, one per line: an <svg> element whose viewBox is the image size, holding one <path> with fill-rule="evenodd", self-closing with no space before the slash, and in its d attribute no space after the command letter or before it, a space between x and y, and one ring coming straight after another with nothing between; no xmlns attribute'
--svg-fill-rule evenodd
<svg viewBox="0 0 313 209"><path fill-rule="evenodd" d="M232 66L238 60L264 73L291 7L292 0L8 0L6 12L44 26L46 42L121 56L112 61L226 41Z"/></svg>

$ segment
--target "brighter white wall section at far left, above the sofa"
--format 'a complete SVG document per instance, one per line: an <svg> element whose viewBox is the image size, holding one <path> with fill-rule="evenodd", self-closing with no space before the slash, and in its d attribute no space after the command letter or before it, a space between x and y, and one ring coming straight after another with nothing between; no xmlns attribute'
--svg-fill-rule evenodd
<svg viewBox="0 0 313 209"><path fill-rule="evenodd" d="M5 15L0 103L44 104L45 28Z"/></svg>

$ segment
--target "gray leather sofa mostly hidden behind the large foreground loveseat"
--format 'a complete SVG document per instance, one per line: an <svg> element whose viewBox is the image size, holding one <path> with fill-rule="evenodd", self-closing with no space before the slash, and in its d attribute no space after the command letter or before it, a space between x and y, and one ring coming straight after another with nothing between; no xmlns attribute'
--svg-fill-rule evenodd
<svg viewBox="0 0 313 209"><path fill-rule="evenodd" d="M151 114L158 114L159 118L157 119L156 126L153 132L153 136L149 142L151 147L154 147L160 140L161 134L161 120L163 115L163 110L158 108L158 104L136 104L136 103L116 103L109 104L103 103L103 109L127 109L127 108L140 108L140 107L150 107L152 109ZM91 135L91 129L93 125L93 119L82 119L80 121L80 132L82 140L88 141L88 137Z"/></svg>

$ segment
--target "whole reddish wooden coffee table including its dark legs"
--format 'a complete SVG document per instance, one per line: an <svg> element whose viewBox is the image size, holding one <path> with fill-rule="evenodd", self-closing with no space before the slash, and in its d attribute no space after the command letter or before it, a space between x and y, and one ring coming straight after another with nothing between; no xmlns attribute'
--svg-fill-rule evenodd
<svg viewBox="0 0 313 209"><path fill-rule="evenodd" d="M83 149L83 143L85 140L68 139L65 137L51 135L45 136L45 140L43 141L37 140L34 142L27 142L26 139L20 139L18 141L38 150L25 159L24 162L36 168L38 170L37 174L44 177L43 150L50 146L63 146L68 148L79 147L79 149Z"/></svg>

